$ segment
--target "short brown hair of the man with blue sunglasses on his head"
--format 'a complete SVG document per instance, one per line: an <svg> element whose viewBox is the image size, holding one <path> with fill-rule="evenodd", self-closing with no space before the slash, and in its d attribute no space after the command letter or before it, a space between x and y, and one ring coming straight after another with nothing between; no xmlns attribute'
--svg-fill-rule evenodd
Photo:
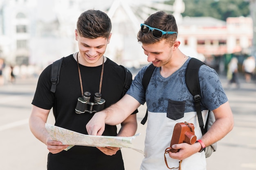
<svg viewBox="0 0 256 170"><path fill-rule="evenodd" d="M175 17L164 11L158 11L154 14L151 14L144 22L144 24L153 28L158 28L162 31L173 31L178 33ZM177 34L164 34L162 37L154 37L152 33L144 34L139 31L137 34L137 39L142 44L154 44L161 41L162 39L166 39L166 41L172 46L177 39Z"/></svg>

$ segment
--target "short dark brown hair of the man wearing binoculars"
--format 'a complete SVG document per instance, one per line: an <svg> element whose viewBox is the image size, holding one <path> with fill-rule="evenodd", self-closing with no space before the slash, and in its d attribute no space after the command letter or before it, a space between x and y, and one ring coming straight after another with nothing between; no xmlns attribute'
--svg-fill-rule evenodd
<svg viewBox="0 0 256 170"><path fill-rule="evenodd" d="M78 34L89 39L108 38L111 28L110 18L106 13L99 10L90 9L83 12L76 22Z"/></svg>

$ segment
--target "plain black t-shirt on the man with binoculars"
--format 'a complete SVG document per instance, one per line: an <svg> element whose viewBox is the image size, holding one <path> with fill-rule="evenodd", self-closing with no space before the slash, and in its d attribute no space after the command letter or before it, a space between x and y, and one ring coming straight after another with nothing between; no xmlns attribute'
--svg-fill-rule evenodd
<svg viewBox="0 0 256 170"><path fill-rule="evenodd" d="M99 92L102 65L97 67L86 67L79 64L81 71L83 92L92 94ZM77 99L81 97L81 86L77 62L71 54L65 57L62 62L59 83L55 94L51 89L51 65L41 73L32 104L43 108L53 107L55 125L88 134L85 125L92 118L93 114L75 113ZM124 91L125 71L120 66L107 59L104 63L103 80L101 87L101 98L106 100L105 108L114 104L122 98ZM131 80L130 82L131 83ZM137 113L137 111L135 111ZM121 114L121 113L120 113ZM103 135L116 136L117 127L106 125ZM74 146L61 153L48 155L48 170L122 170L124 163L119 150L117 154L108 156L96 147Z"/></svg>

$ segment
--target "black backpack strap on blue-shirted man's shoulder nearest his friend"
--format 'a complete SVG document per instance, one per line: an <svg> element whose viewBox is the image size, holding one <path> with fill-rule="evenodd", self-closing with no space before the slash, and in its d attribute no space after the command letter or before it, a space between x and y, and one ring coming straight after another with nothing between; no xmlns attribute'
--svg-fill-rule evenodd
<svg viewBox="0 0 256 170"><path fill-rule="evenodd" d="M149 81L151 79L151 76L152 76L154 70L155 70L155 66L153 64L150 64L148 66L148 68L146 69L146 71L144 72L144 75L143 75L143 78L142 78L142 85L143 85L145 93L146 93L146 89L148 87L148 83L149 83ZM145 124L147 119L148 119L148 109L146 111L145 117L141 120L141 124Z"/></svg>

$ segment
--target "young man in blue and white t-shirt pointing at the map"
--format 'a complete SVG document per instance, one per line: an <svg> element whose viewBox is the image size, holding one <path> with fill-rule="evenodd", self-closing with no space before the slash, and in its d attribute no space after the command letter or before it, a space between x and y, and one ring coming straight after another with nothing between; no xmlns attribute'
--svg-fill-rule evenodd
<svg viewBox="0 0 256 170"><path fill-rule="evenodd" d="M202 92L201 108L205 124L207 111L214 113L216 121L202 136L198 124L195 102L186 86L185 72L191 57L179 50L177 24L171 14L163 11L154 13L141 24L137 39L142 43L148 62L156 66L146 92L142 77L146 67L142 68L132 81L126 95L116 104L98 112L87 124L90 135L101 135L106 124L118 124L145 102L148 107L148 123L145 139L145 158L141 170L166 170L165 149L170 146L173 128L178 122L189 122L195 126L195 135L199 142L195 144L175 144L179 152L169 152L168 166L182 170L206 170L203 150L222 139L234 126L234 120L227 96L215 70L202 65L199 70ZM123 113L123 114L118 114ZM182 163L179 163L182 160Z"/></svg>

